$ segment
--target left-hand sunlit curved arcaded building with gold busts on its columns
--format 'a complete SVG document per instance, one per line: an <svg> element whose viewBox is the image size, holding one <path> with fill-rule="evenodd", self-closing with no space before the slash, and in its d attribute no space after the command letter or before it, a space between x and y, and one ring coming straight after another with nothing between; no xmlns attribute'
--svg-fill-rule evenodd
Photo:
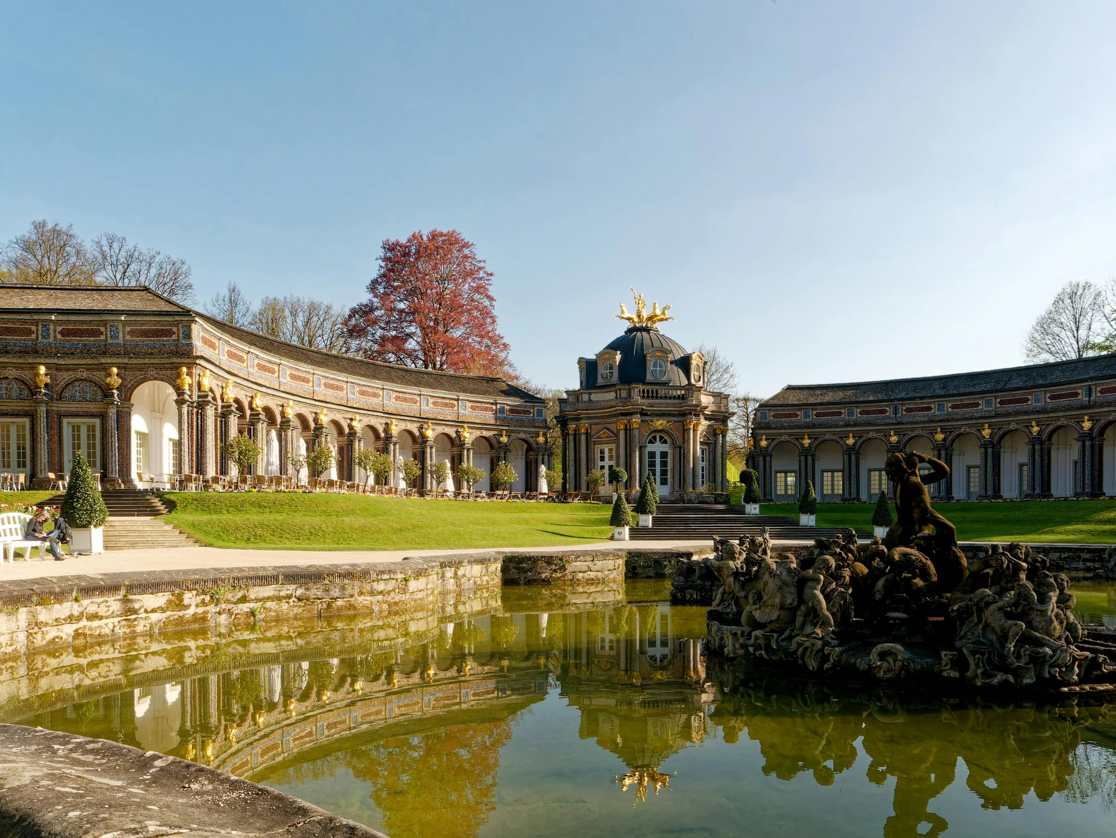
<svg viewBox="0 0 1116 838"><path fill-rule="evenodd" d="M256 474L294 476L288 454L330 445L323 476L363 481L354 455L371 447L417 460L427 490L439 461L510 460L512 490L532 491L550 462L542 399L500 378L307 349L146 288L0 286L0 473L41 488L78 452L105 488L228 474L238 433L262 450Z"/></svg>

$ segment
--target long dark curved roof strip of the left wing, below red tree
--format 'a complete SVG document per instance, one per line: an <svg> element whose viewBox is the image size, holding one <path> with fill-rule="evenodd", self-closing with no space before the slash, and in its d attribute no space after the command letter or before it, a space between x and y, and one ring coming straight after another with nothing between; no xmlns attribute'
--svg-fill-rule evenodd
<svg viewBox="0 0 1116 838"><path fill-rule="evenodd" d="M484 396L487 398L516 398L521 402L543 404L543 399L531 395L526 389L520 389L513 384L509 384L502 378L484 375L459 375L456 373L442 373L434 369L417 369L398 364L385 364L382 360L367 360L365 358L354 358L348 355L334 355L321 349L307 349L305 346L296 346L283 340L264 337L256 331L232 326L223 320L210 318L206 315L202 315L202 317L212 324L215 329L225 333L235 340L253 346L276 357L287 358L296 364L302 364L314 369L328 369L340 375L368 378L383 382L384 384L397 384L403 387L441 389L448 393L462 393L464 395Z"/></svg>

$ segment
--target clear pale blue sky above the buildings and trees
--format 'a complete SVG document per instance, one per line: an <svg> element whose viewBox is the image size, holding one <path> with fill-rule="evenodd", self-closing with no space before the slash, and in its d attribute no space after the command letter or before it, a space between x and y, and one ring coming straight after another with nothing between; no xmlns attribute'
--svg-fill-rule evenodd
<svg viewBox="0 0 1116 838"><path fill-rule="evenodd" d="M1022 363L1116 273L1116 3L4 3L0 240L350 304L456 228L571 386L629 286L743 384ZM898 349L912 338L918 349Z"/></svg>

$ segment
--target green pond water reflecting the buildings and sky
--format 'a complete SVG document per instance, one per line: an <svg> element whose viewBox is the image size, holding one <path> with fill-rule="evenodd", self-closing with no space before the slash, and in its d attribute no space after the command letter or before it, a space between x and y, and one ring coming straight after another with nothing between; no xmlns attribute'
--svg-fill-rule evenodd
<svg viewBox="0 0 1116 838"><path fill-rule="evenodd" d="M1076 590L1080 618L1116 620L1112 586ZM393 838L1116 834L1116 700L728 667L702 657L704 609L666 593L547 611L506 589L507 610L391 642L359 620L164 638L122 649L123 675L86 659L78 688L55 656L27 676L52 692L0 719L194 759Z"/></svg>

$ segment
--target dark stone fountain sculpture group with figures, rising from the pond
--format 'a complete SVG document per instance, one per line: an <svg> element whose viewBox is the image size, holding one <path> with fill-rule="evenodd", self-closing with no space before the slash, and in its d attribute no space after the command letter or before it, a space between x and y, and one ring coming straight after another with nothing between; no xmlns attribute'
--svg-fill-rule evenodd
<svg viewBox="0 0 1116 838"><path fill-rule="evenodd" d="M1045 557L1012 543L966 561L926 492L949 474L944 463L897 453L885 471L897 521L883 541L858 543L849 530L796 557L772 552L766 533L718 539L714 558L680 569L675 601L712 593L712 652L981 687L1084 691L1116 680L1116 635L1075 619L1069 580Z"/></svg>

